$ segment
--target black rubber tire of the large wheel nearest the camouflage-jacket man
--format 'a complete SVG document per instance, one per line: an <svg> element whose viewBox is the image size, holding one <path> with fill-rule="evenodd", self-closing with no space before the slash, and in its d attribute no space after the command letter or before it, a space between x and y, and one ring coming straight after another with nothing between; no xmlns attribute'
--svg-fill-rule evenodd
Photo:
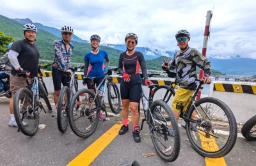
<svg viewBox="0 0 256 166"><path fill-rule="evenodd" d="M189 142L191 142L195 151L197 151L200 155L202 155L204 157L209 157L209 158L220 158L222 156L227 155L236 144L236 139L237 139L236 118L235 118L232 110L230 110L230 108L224 102L222 102L221 100L219 100L217 98L212 98L212 97L201 98L200 100L196 101L194 104L197 107L198 105L200 105L202 103L214 103L214 104L218 105L225 112L225 115L227 116L229 124L230 124L230 135L228 137L227 143L225 144L225 146L223 146L220 150L218 150L216 152L205 151L204 149L196 146L195 142L193 142L193 139L192 139L193 135L191 135L191 133L189 132L190 124L187 121L186 122L186 132L188 135L188 139L189 139ZM194 107L192 105L188 110L189 118L192 116L193 111L194 111Z"/></svg>

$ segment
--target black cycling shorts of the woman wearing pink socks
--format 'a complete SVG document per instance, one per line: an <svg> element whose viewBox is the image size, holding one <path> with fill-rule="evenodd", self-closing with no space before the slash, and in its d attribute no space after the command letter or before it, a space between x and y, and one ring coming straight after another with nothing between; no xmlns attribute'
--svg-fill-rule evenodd
<svg viewBox="0 0 256 166"><path fill-rule="evenodd" d="M127 84L122 81L120 93L122 100L129 99L130 102L140 103L141 83Z"/></svg>

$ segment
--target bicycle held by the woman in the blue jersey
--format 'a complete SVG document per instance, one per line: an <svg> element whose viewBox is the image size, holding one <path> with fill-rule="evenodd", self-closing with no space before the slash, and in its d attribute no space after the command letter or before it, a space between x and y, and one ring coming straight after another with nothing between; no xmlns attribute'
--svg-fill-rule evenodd
<svg viewBox="0 0 256 166"><path fill-rule="evenodd" d="M91 91L90 89L84 88L77 91L77 93L74 94L74 96L72 97L72 100L70 102L70 107L68 110L68 114L69 114L68 120L70 123L70 128L77 136L89 137L90 135L92 135L93 132L95 132L97 124L99 123L100 110L105 112L106 116L108 117L108 113L106 112L106 105L104 103L106 88L104 88L101 99L99 99L99 96L98 96L98 90L100 89L104 81L105 81L104 87L108 87L109 107L115 114L118 114L120 112L120 107L121 107L120 93L115 82L113 82L113 79L109 77L109 75L112 75L113 70L117 71L118 68L113 68L108 70L108 73L105 75L102 82L100 82L99 86L94 87L95 93L93 93L93 91ZM93 82L93 78L84 78L84 81L87 81L87 80L90 80ZM113 93L111 93L111 87L113 88L113 91L114 91ZM82 107L79 110L80 116L74 119L74 117L72 116L74 112L72 108L76 104L76 98L79 96L83 96L83 100L80 102ZM111 101L113 99L116 99L118 102L115 108L113 107L113 102ZM85 118L81 118L81 117L85 117ZM89 121L88 123L87 123L87 120ZM82 124L76 124L75 122L82 123Z"/></svg>

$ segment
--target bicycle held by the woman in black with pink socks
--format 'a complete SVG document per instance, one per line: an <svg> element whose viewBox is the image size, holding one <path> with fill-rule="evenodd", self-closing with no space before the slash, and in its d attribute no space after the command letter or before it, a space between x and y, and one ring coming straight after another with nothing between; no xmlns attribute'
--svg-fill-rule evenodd
<svg viewBox="0 0 256 166"><path fill-rule="evenodd" d="M156 75L159 75L159 73L150 73L148 74L148 77L153 77ZM143 79L143 75L141 75L141 79ZM143 102L143 100L147 100L147 103L143 105L145 117L142 119L141 130L143 130L143 124L146 121L149 126L150 137L158 155L165 162L173 162L178 158L180 153L179 126L172 110L167 103L163 102L163 100L153 101L154 89L157 87L159 87L158 84L150 84L148 86L149 95L147 98L145 89L143 85L141 85L141 102ZM156 112L159 114L159 116L161 116L161 118L156 119L154 117ZM170 126L173 128L173 136L170 133ZM165 142L163 143L161 140L164 140Z"/></svg>

